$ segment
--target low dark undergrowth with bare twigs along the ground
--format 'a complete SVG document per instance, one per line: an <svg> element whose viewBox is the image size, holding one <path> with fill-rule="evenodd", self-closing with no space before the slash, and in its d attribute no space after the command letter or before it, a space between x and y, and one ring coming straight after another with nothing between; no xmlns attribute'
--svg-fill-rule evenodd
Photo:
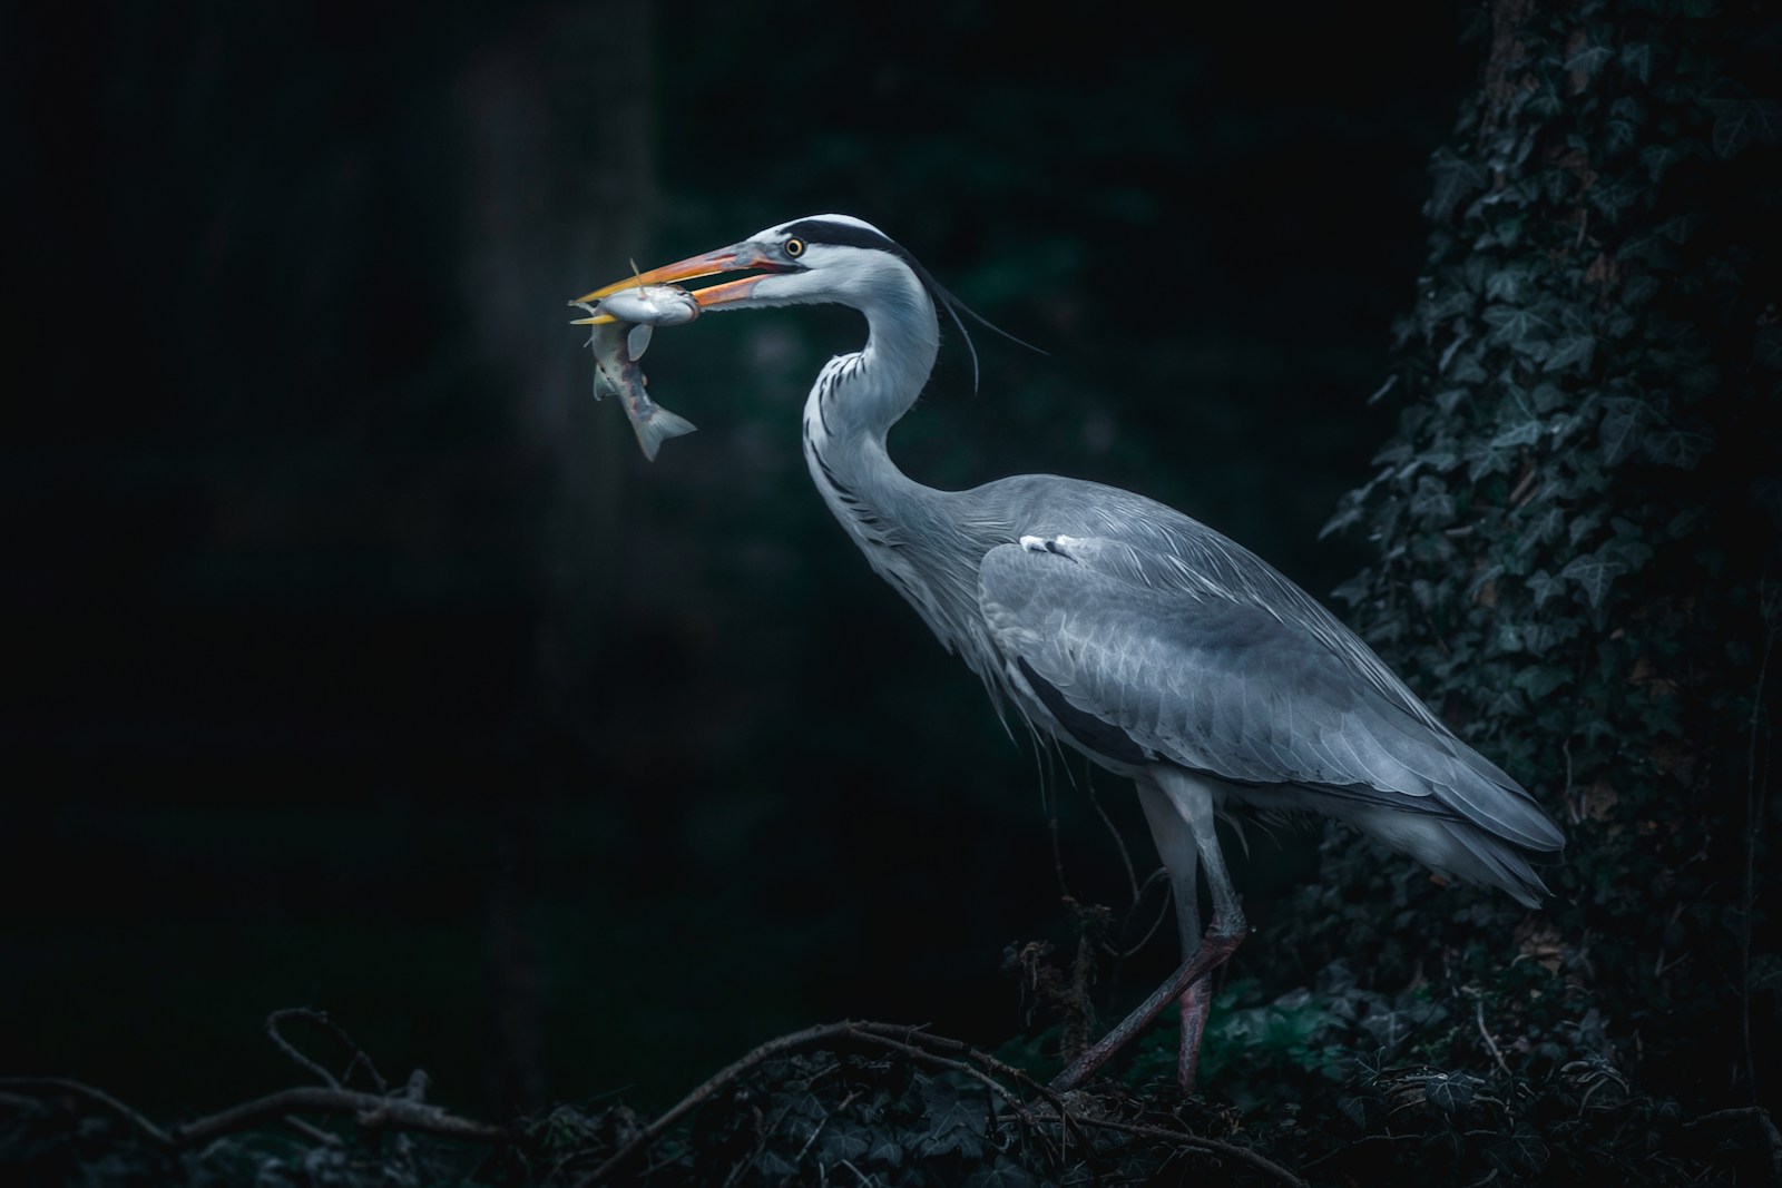
<svg viewBox="0 0 1782 1188"><path fill-rule="evenodd" d="M1274 1019L1324 1028L1299 1006ZM1281 1033L1303 1037L1299 1022ZM194 1188L1734 1184L1762 1183L1775 1133L1757 1110L1689 1117L1591 1056L1540 1085L1377 1063L1249 1111L1183 1099L1171 1081L1059 1097L994 1062L854 1046L782 1053L707 1088L661 1131L606 1101L560 1104L488 1145L424 1126L390 1131L364 1115L262 1115L180 1151L87 1095L18 1097L0 1108L0 1174L9 1184Z"/></svg>

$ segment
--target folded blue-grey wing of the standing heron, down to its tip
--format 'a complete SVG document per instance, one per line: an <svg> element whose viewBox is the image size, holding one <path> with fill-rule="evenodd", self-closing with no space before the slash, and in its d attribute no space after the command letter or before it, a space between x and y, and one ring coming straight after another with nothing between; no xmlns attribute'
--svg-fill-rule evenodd
<svg viewBox="0 0 1782 1188"><path fill-rule="evenodd" d="M993 641L1060 725L1099 723L1103 753L1128 748L1116 759L1461 818L1538 851L1563 844L1515 780L1331 647L1328 614L1308 625L1296 607L1183 575L1180 557L1067 536L993 549L978 597Z"/></svg>

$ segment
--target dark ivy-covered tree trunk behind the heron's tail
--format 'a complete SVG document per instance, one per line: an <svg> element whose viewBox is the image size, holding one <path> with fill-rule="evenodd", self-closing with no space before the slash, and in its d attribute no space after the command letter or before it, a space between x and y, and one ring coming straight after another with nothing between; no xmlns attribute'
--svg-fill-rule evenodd
<svg viewBox="0 0 1782 1188"><path fill-rule="evenodd" d="M1778 1029L1782 107L1759 93L1778 34L1666 0L1538 5L1493 32L1431 160L1399 431L1326 531L1377 549L1336 591L1358 629L1570 846L1529 915L1333 839L1269 937L1381 989L1527 981L1518 1070L1559 1058L1538 1031L1591 1015L1604 1060L1702 1101L1748 1092ZM1511 969L1547 932L1563 962Z"/></svg>

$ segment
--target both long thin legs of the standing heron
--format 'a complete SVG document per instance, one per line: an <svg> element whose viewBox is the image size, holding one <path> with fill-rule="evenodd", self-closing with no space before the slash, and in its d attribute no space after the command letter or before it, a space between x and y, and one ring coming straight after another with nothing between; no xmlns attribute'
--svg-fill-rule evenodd
<svg viewBox="0 0 1782 1188"><path fill-rule="evenodd" d="M1201 1033L1206 1029L1206 1012L1212 1006L1212 983L1206 976L1231 958L1246 933L1244 910L1226 873L1219 834L1214 828L1215 787L1203 777L1174 768L1153 768L1149 778L1139 780L1139 800L1176 894L1176 923L1185 958L1169 981L1060 1072L1051 1081L1053 1090L1076 1088L1108 1056L1148 1028L1171 1001L1181 1010L1176 1078L1185 1092L1194 1090ZM1199 932L1198 866L1206 867L1206 887L1214 901L1214 915L1205 935Z"/></svg>

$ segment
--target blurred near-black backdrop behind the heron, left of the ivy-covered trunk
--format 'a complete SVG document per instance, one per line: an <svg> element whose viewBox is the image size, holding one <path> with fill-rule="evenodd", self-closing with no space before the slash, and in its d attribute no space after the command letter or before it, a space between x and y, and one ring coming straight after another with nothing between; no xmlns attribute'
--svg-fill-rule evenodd
<svg viewBox="0 0 1782 1188"><path fill-rule="evenodd" d="M650 465L563 301L857 214L1046 351L977 335L973 394L950 335L914 477L1132 486L1322 597L1475 77L1447 5L46 12L0 21L0 1069L148 1110L287 1081L294 1005L494 1110L845 1015L1012 1035L1048 805L1071 892L1126 876L809 488L857 317L663 331L700 433Z"/></svg>

